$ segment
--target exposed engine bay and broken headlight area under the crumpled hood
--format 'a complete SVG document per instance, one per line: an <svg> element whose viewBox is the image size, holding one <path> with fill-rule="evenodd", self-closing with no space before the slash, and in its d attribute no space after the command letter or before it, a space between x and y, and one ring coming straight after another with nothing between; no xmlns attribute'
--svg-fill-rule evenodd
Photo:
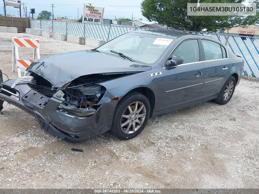
<svg viewBox="0 0 259 194"><path fill-rule="evenodd" d="M47 97L52 97L61 89L64 93L63 98L65 100L60 104L60 110L73 116L86 117L93 115L97 111L97 104L106 92L106 88L97 83L122 77L128 75L128 73L84 75L67 83L62 88L53 88L48 80L35 73L31 73L30 75L36 80L36 84L30 85L32 89ZM117 100L119 100L119 98Z"/></svg>

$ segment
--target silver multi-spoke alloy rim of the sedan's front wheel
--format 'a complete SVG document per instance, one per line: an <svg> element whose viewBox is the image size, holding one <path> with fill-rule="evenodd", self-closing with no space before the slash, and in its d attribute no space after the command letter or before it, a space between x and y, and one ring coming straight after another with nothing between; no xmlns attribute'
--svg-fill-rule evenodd
<svg viewBox="0 0 259 194"><path fill-rule="evenodd" d="M146 117L146 107L142 102L131 103L122 113L120 119L121 130L126 134L137 131Z"/></svg>

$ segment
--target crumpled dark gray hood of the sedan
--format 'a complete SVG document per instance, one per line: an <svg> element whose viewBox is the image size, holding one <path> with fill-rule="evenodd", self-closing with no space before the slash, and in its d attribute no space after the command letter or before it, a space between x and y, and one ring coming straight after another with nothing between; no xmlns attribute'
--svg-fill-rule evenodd
<svg viewBox="0 0 259 194"><path fill-rule="evenodd" d="M51 55L39 59L31 63L27 71L32 71L44 77L54 87L62 87L83 75L142 72L150 69L150 66L132 62L122 57L88 50Z"/></svg>

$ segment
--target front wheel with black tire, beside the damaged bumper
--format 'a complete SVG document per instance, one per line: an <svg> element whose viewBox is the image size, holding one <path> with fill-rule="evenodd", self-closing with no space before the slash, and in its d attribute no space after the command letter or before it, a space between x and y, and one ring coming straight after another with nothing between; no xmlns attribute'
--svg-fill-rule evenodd
<svg viewBox="0 0 259 194"><path fill-rule="evenodd" d="M119 139L131 139L139 135L147 125L150 103L146 96L132 92L123 97L114 112L112 133Z"/></svg>

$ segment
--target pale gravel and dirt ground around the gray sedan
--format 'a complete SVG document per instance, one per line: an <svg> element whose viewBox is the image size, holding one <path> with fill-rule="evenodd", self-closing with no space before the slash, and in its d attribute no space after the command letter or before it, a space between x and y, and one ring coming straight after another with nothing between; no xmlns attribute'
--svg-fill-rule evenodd
<svg viewBox="0 0 259 194"><path fill-rule="evenodd" d="M12 36L38 38L41 57L89 49L0 33L0 69L9 78L17 78L11 71ZM227 105L209 101L153 117L128 141L107 132L77 144L48 134L5 102L0 188L259 188L258 99L259 82L242 79Z"/></svg>

